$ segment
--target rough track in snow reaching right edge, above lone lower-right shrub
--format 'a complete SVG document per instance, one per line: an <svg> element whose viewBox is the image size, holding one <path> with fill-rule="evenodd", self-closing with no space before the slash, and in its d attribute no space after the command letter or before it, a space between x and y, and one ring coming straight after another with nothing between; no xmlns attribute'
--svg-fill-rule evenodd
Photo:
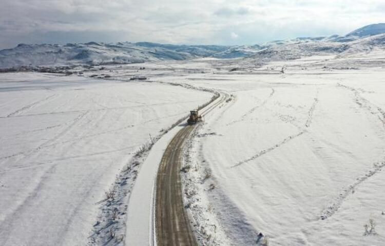
<svg viewBox="0 0 385 246"><path fill-rule="evenodd" d="M348 186L343 188L339 195L333 199L333 201L326 207L326 209L322 210L320 219L328 219L333 214L335 214L338 209L341 207L342 202L352 193L354 193L354 190L357 186L359 186L362 182L370 178L371 176L375 175L376 173L382 171L382 168L385 167L385 161L374 163L374 168L369 170L367 173L359 176L356 178L356 181Z"/></svg>

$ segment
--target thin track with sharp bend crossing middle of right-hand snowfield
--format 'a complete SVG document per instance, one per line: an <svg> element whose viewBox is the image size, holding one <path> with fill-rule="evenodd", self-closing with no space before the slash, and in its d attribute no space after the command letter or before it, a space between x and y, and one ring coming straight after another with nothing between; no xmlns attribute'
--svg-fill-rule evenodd
<svg viewBox="0 0 385 246"><path fill-rule="evenodd" d="M273 93L273 94L274 94L274 93ZM315 110L315 108L316 108L316 106L317 106L317 104L318 104L318 101L319 101L319 100L318 100L318 90L317 90L317 95L316 95L316 97L314 98L314 102L313 102L312 106L310 107L309 111L307 112L307 115L308 115L308 116L307 116L307 119L306 119L306 122L305 122L306 128L309 128L309 127L311 126L311 124L312 124L312 120L313 120L313 112L314 112L314 110ZM256 159L256 158L258 158L258 157L260 157L260 156L262 156L262 155L264 155L264 154L266 154L266 153L268 153L268 152L271 152L271 151L273 151L273 150L275 150L275 149L281 147L282 145L286 144L287 142L290 142L290 141L293 140L294 138L297 138L297 137L301 136L302 134L304 134L304 133L306 133L306 132L307 132L306 129L302 129L299 133L294 134L294 135L290 135L290 136L286 137L285 139L283 139L283 140L282 140L281 142L279 142L278 144L276 144L276 145L274 145L274 146L272 146L272 147L270 147L270 148L268 148L268 149L262 150L262 151L260 151L259 153L257 153L256 155L254 155L254 156L252 156L252 157L250 157L250 158L248 158L248 159L246 159L246 160L240 161L240 162L238 162L237 164L235 164L235 165L233 165L233 166L230 166L230 168L238 167L238 166L240 166L240 165L242 165L242 164L244 164L244 163L246 163L246 162L248 162L248 161L254 160L254 159Z"/></svg>

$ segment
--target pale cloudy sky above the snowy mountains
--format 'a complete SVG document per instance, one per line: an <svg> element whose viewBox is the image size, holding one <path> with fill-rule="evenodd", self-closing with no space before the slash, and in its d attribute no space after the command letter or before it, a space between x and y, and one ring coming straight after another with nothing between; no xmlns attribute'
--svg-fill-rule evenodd
<svg viewBox="0 0 385 246"><path fill-rule="evenodd" d="M384 22L384 0L2 0L0 49L89 41L259 44Z"/></svg>

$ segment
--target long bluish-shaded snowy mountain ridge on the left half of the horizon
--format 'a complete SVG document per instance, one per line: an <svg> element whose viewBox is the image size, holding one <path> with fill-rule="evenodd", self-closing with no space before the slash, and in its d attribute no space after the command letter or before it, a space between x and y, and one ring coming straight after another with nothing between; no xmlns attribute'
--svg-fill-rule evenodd
<svg viewBox="0 0 385 246"><path fill-rule="evenodd" d="M128 64L210 56L226 46L177 46L154 43L26 45L0 51L0 68L72 64Z"/></svg>

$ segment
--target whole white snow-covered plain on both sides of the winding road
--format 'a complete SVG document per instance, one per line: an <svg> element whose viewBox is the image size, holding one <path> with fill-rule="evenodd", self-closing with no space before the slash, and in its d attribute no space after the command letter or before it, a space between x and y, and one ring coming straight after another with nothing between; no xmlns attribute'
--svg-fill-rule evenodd
<svg viewBox="0 0 385 246"><path fill-rule="evenodd" d="M200 59L83 76L0 74L0 244L84 245L92 236L107 245L107 236L94 238L105 226L99 201L149 134L160 135L213 95L195 86L232 95L204 117L185 149L183 193L202 245L266 237L269 245L382 245L383 50L254 65ZM121 80L87 78L101 73ZM151 82L127 80L133 75ZM119 204L128 212L119 223L133 225L119 229L126 236L119 243L150 237L134 226L150 230L150 218L142 221L151 214L153 183L146 181L176 131L141 160L137 198L129 191ZM127 209L141 192L143 209ZM369 219L377 235L363 235Z"/></svg>

